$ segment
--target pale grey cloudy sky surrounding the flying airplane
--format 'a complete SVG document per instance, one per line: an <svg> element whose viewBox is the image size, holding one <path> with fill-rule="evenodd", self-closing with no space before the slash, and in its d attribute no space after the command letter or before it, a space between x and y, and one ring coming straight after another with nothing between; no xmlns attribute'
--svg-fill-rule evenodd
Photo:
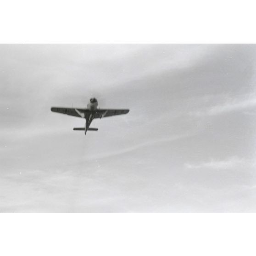
<svg viewBox="0 0 256 256"><path fill-rule="evenodd" d="M256 212L256 45L0 45L0 212ZM127 115L53 113L96 97Z"/></svg>

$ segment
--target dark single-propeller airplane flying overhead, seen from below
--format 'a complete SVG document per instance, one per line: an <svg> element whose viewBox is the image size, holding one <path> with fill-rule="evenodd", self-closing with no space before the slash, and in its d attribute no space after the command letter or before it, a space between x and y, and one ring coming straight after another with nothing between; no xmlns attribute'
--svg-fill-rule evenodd
<svg viewBox="0 0 256 256"><path fill-rule="evenodd" d="M86 135L87 131L98 131L98 128L89 128L93 119L124 115L130 111L129 109L100 109L98 108L98 101L95 98L90 99L87 108L86 106L85 108L51 107L50 110L69 116L85 118L84 127L73 128L74 131L84 131L84 135Z"/></svg>

